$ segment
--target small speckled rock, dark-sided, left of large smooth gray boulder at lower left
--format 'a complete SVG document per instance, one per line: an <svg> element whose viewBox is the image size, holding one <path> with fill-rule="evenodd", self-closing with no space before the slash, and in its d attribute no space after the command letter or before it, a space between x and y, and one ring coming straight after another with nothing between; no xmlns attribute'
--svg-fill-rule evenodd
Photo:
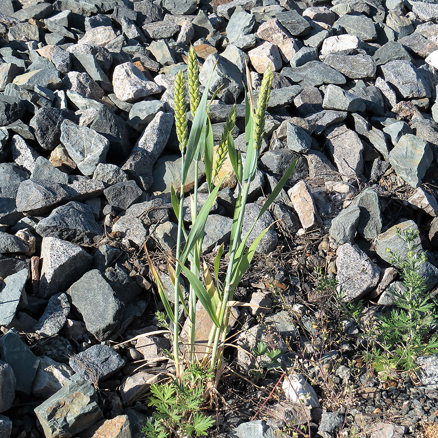
<svg viewBox="0 0 438 438"><path fill-rule="evenodd" d="M62 329L70 313L70 303L65 293L53 295L46 310L35 325L35 331L42 336L55 336Z"/></svg>

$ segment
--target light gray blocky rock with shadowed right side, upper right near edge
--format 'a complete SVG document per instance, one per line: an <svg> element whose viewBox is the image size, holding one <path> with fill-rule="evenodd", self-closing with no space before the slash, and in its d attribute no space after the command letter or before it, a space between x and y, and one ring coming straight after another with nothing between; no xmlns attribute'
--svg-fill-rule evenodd
<svg viewBox="0 0 438 438"><path fill-rule="evenodd" d="M385 81L393 84L404 98L426 97L430 95L430 86L417 68L410 62L395 60L382 65Z"/></svg>

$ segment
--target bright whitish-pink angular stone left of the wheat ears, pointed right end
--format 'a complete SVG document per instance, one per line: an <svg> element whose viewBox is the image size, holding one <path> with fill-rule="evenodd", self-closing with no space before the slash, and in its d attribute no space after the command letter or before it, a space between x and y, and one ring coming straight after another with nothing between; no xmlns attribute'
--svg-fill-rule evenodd
<svg viewBox="0 0 438 438"><path fill-rule="evenodd" d="M114 68L112 85L117 99L133 102L141 97L161 92L161 87L146 76L131 62L119 64Z"/></svg>

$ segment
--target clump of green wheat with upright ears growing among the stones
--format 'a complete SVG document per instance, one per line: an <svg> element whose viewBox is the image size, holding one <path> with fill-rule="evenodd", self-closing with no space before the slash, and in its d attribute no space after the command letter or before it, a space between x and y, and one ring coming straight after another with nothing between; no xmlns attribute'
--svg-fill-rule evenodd
<svg viewBox="0 0 438 438"><path fill-rule="evenodd" d="M274 199L277 197L281 188L284 186L288 178L291 176L295 167L294 161L285 172L284 176L274 188L272 194L266 200L258 217L250 227L246 235L242 236L243 217L245 206L247 203L249 187L256 175L257 160L260 154L260 145L264 133L265 114L268 107L270 90L272 86L273 71L271 68L263 75L261 88L258 94L257 106L254 104L252 94L251 76L247 67L247 82L248 91L245 98L245 140L246 140L246 160L242 164L242 157L239 150L236 150L232 132L236 124L236 107L230 112L230 115L225 124L224 132L219 143L216 160L213 163L213 133L211 129L208 110L216 96L217 91L212 93L210 102L208 102L208 93L210 88L210 80L206 84L205 91L202 97L199 97L199 69L196 62L196 52L193 48L189 51L188 58L188 85L189 85L189 101L190 109L193 115L193 123L190 133L187 138L187 117L185 114L185 83L183 73L178 73L175 78L175 124L177 126L178 140L180 141L180 150L182 152L182 168L181 168L181 187L179 191L179 199L176 189L171 188L171 202L178 218L178 234L177 248L175 255L175 268L169 263L169 275L174 284L174 308L172 309L165 293L164 285L158 275L156 268L146 251L148 257L150 272L153 275L158 286L160 297L164 304L167 317L173 324L173 345L172 358L175 363L177 379L182 379L184 374L184 364L180 358L180 324L178 320L179 304L183 305L184 311L188 317L189 330L188 347L189 359L188 368L192 369L196 366L205 367L211 370L214 376L213 382L209 385L215 387L219 383L223 348L226 340L226 333L229 323L230 310L233 304L234 290L239 284L243 274L248 269L253 256L256 252L256 247L260 239L264 236L269 227L264 230L254 242L247 248L247 239L253 231L256 221L268 209ZM225 279L223 282L219 280L219 263L223 256L224 245L219 247L214 264L214 276L211 274L205 261L201 263L201 247L204 237L204 227L208 219L210 209L213 202L216 200L219 192L221 181L217 181L217 176L220 166L223 164L226 154L230 157L234 173L237 177L237 200L233 218L233 226L231 232L230 243L228 247L229 263ZM209 195L204 202L200 212L197 212L197 195L198 195L198 164L203 159L209 188ZM191 197L191 213L192 227L190 231L186 231L183 225L183 200L185 183L190 165L195 165L195 187L193 197ZM185 244L182 247L182 236L185 237ZM187 261L189 266L186 266ZM183 294L180 288L179 277L184 274L190 284L190 292L188 304L184 302ZM203 281L205 282L205 286ZM195 333L196 333L196 315L195 308L197 300L199 300L208 313L212 321L212 329L210 332L208 344L202 346L202 353L195 351ZM184 341L181 340L181 344ZM205 352L207 350L207 352Z"/></svg>

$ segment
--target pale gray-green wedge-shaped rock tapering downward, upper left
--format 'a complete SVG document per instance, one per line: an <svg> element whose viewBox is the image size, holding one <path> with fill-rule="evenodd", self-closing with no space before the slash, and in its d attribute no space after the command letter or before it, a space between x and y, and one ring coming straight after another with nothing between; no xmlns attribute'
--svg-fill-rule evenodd
<svg viewBox="0 0 438 438"><path fill-rule="evenodd" d="M97 164L105 161L109 141L94 129L77 126L70 120L61 124L61 143L83 175L92 175Z"/></svg>

